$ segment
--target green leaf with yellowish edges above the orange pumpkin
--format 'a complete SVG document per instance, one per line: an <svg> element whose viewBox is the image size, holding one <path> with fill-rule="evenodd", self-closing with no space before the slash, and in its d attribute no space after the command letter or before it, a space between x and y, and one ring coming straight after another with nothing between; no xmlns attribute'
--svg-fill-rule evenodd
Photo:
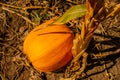
<svg viewBox="0 0 120 80"><path fill-rule="evenodd" d="M58 18L53 24L65 24L68 21L82 17L86 13L85 5L76 5L67 10L60 18Z"/></svg>

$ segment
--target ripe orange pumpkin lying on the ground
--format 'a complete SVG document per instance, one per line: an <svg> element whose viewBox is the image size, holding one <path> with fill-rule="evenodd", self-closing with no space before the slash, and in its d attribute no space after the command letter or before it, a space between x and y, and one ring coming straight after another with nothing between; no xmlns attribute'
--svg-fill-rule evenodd
<svg viewBox="0 0 120 80"><path fill-rule="evenodd" d="M34 68L42 72L60 69L72 59L73 32L64 24L49 25L53 21L33 29L23 44L24 53Z"/></svg>

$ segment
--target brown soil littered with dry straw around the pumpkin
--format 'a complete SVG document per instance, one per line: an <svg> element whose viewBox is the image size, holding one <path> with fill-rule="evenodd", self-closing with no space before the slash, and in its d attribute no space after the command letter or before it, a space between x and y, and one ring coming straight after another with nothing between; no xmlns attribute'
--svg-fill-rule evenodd
<svg viewBox="0 0 120 80"><path fill-rule="evenodd" d="M108 2L111 6L120 3ZM0 0L0 3L0 80L61 79L64 70L43 73L34 69L23 53L23 41L35 25L61 16L71 6L85 4L85 0ZM28 6L40 8L25 8ZM68 24L79 26L79 19ZM84 76L78 80L120 80L120 13L100 23L87 52Z"/></svg>

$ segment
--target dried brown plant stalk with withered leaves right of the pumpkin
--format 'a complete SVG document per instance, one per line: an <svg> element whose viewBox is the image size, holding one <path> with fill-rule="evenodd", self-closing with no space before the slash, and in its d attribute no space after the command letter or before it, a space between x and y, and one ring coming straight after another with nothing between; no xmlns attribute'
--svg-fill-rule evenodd
<svg viewBox="0 0 120 80"><path fill-rule="evenodd" d="M74 58L65 72L65 78L67 78L67 80L79 78L78 76L81 75L86 68L88 54L85 50L99 23L104 19L113 18L117 12L120 11L120 4L108 9L103 0L86 0L86 7L87 12L82 22L81 34L76 33L74 40L72 50Z"/></svg>

